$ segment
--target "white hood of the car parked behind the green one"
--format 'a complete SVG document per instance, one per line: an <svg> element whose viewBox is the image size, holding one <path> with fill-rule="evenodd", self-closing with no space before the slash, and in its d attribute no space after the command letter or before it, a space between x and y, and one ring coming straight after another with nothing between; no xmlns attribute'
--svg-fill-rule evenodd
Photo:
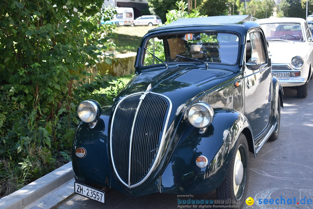
<svg viewBox="0 0 313 209"><path fill-rule="evenodd" d="M273 64L289 63L295 56L305 60L309 47L308 42L271 41L268 47L269 58Z"/></svg>

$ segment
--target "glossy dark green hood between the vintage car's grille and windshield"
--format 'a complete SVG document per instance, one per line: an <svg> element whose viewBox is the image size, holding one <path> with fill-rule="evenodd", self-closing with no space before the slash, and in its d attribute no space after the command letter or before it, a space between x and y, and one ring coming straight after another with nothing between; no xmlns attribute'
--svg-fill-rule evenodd
<svg viewBox="0 0 313 209"><path fill-rule="evenodd" d="M205 90L215 89L235 74L234 71L223 67L206 69L201 64L170 65L168 69L163 66L150 68L135 75L120 92L115 102L127 95L145 92L151 84L150 92L162 94L180 106L203 94Z"/></svg>

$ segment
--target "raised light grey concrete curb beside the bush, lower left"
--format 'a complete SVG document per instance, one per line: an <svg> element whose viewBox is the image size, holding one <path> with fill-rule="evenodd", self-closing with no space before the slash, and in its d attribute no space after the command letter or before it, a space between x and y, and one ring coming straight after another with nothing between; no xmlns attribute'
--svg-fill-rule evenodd
<svg viewBox="0 0 313 209"><path fill-rule="evenodd" d="M23 209L74 177L72 162L0 199L0 209Z"/></svg>

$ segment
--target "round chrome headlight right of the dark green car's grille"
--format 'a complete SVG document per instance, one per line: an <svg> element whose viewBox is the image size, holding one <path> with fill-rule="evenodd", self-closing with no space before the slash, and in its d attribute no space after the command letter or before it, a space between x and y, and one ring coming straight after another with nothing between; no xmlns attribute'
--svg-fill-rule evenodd
<svg viewBox="0 0 313 209"><path fill-rule="evenodd" d="M204 102L199 102L192 105L188 111L189 122L197 128L204 128L213 121L213 109Z"/></svg>

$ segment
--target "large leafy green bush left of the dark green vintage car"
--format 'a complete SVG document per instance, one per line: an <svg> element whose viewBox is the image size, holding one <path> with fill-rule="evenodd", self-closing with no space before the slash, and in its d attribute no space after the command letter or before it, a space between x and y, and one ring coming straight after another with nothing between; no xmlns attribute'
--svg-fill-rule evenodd
<svg viewBox="0 0 313 209"><path fill-rule="evenodd" d="M107 105L113 77L85 71L113 45L103 0L0 2L0 197L69 161L83 99ZM117 90L116 90L117 91Z"/></svg>

